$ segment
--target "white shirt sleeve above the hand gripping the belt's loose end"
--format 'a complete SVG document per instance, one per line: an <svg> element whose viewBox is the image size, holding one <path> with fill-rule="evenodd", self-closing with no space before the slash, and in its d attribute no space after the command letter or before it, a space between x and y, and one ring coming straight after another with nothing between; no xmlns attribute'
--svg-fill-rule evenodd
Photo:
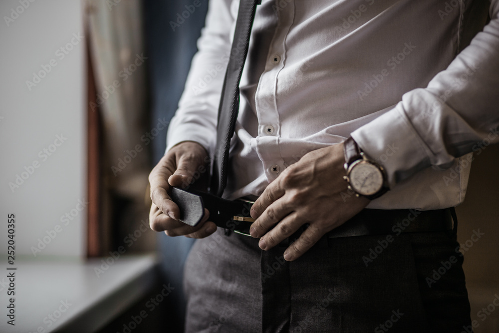
<svg viewBox="0 0 499 333"><path fill-rule="evenodd" d="M231 48L232 0L210 0L206 24L198 39L184 92L170 121L167 148L182 141L200 143L213 151L218 105Z"/></svg>

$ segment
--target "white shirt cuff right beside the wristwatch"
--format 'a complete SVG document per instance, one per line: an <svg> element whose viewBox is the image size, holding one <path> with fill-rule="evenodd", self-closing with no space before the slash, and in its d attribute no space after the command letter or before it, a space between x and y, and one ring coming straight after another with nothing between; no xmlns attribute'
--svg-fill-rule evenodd
<svg viewBox="0 0 499 333"><path fill-rule="evenodd" d="M410 123L401 103L351 136L367 157L384 167L390 188L431 165L431 151Z"/></svg>

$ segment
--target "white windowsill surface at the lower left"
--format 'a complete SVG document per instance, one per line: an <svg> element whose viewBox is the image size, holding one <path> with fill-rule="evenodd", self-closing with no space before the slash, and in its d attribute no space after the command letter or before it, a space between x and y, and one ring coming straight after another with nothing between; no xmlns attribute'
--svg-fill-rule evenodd
<svg viewBox="0 0 499 333"><path fill-rule="evenodd" d="M0 332L94 332L144 297L157 278L154 255L122 256L97 277L94 269L101 264L101 259L16 261L15 271L2 265ZM14 327L6 317L11 297L7 296L8 272L15 272ZM66 300L67 309L61 303ZM53 322L48 315L58 316L60 307L65 312Z"/></svg>

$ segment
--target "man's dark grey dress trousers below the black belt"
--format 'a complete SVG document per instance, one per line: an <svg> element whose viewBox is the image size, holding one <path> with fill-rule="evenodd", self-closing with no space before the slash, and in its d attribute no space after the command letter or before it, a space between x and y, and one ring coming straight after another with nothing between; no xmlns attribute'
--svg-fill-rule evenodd
<svg viewBox="0 0 499 333"><path fill-rule="evenodd" d="M221 230L186 263L186 332L460 333L471 323L452 233L322 241L298 260L284 247Z"/></svg>

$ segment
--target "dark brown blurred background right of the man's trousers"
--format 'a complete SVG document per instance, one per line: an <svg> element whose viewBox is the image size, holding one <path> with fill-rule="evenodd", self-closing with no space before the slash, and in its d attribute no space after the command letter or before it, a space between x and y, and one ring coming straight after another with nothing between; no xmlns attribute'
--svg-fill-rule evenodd
<svg viewBox="0 0 499 333"><path fill-rule="evenodd" d="M456 208L458 242L465 256L471 317L479 325L475 332L495 333L499 332L499 145L474 157L465 201ZM477 239L475 232L484 235Z"/></svg>

